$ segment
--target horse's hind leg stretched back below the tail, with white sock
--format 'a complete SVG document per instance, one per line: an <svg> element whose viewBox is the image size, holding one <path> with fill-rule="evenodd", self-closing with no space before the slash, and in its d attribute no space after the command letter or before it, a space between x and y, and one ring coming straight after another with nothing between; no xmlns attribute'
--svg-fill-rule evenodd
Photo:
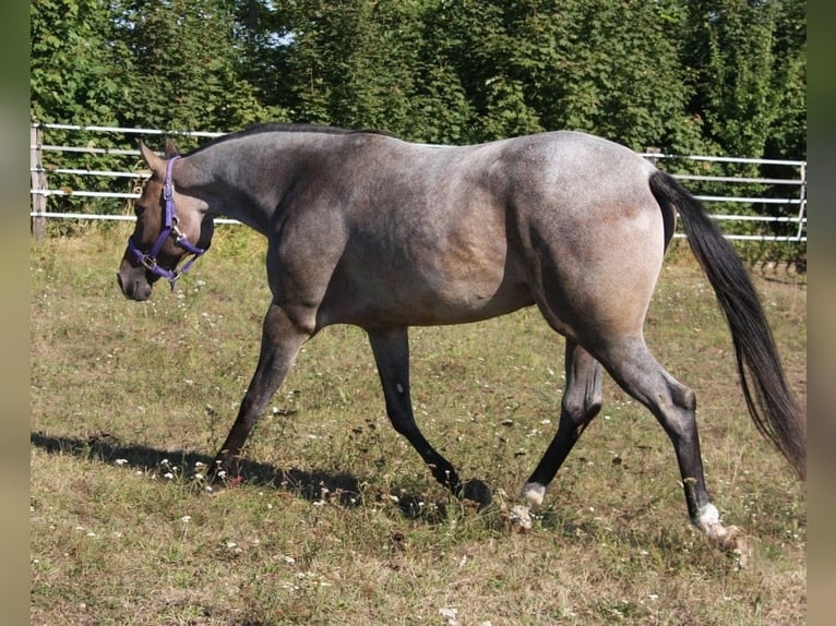
<svg viewBox="0 0 836 626"><path fill-rule="evenodd" d="M735 547L738 529L720 523L705 486L694 393L653 358L641 337L609 344L600 359L619 385L653 412L673 443L691 521L710 539Z"/></svg>

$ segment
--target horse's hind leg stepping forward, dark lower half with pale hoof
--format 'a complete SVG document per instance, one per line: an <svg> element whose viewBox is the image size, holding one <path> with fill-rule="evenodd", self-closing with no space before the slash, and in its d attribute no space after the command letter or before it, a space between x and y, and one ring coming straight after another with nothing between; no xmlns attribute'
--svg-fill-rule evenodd
<svg viewBox="0 0 836 626"><path fill-rule="evenodd" d="M566 387L560 408L558 432L523 487L526 499L534 505L542 504L546 487L601 408L604 369L589 352L571 339L566 340L565 371Z"/></svg>

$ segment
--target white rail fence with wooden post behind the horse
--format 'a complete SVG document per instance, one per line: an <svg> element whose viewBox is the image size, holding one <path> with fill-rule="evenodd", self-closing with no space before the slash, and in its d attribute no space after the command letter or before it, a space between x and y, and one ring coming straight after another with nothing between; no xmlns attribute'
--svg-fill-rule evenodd
<svg viewBox="0 0 836 626"><path fill-rule="evenodd" d="M59 145L45 143L49 133L77 133L85 136L104 136L104 142L88 141L85 145ZM81 127L73 124L56 124L34 122L31 124L31 173L32 173L32 229L36 239L44 236L47 219L93 219L93 220L133 220L135 217L128 210L131 200L139 197L138 188L147 173L136 169L140 162L140 152L135 148L114 147L107 145L108 139L124 143L126 136L133 136L136 143L139 136L177 136L212 139L224 133L202 131L163 131L156 129L126 129L111 127ZM77 137L76 137L77 140ZM70 142L68 142L70 143ZM57 167L47 162L48 155L77 155L77 161L86 162L83 167ZM779 160L779 159L752 159L710 156L680 156L666 155L648 148L643 154L653 161L666 161L662 164L673 176L685 182L695 195L712 208L719 206L725 213L712 214L712 218L721 221L726 237L739 241L784 241L803 244L807 242L807 161ZM96 169L91 167L89 161L99 159L101 162L111 164L115 157L130 162L128 165ZM57 160L65 164L74 157L58 157ZM82 164L83 165L83 164ZM732 170L767 168L788 176L762 177L741 176L717 172L722 166L730 166ZM696 172L696 173L695 173ZM63 179L71 178L73 181L93 180L96 182L84 185L69 186L61 184ZM101 186L101 180L126 180L129 183L124 189L95 190ZM105 186L112 188L112 184ZM118 186L118 185L117 185ZM707 192L701 193L700 188ZM744 193L740 193L739 190ZM719 192L717 191L719 190ZM785 191L787 190L787 191ZM112 213L88 213L82 210L48 210L47 203L50 197L59 196L72 201L84 198L101 198L117 201L119 206ZM91 202L89 200L87 201ZM65 204L65 203L64 203ZM731 208L730 208L731 207ZM740 213L733 207L740 207ZM215 220L218 224L238 224L232 219ZM753 224L768 228L768 232L753 233ZM743 230L744 232L741 232ZM677 237L683 237L677 233Z"/></svg>

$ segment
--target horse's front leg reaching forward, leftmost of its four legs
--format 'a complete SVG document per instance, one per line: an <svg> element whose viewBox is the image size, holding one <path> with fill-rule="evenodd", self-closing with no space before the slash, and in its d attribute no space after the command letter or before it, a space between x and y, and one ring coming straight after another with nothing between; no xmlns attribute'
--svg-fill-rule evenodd
<svg viewBox="0 0 836 626"><path fill-rule="evenodd" d="M312 330L291 318L285 309L271 304L264 317L259 365L241 401L238 418L215 457L213 478L217 478L220 471L230 478L238 475L241 449L247 437L290 371L299 349L312 334Z"/></svg>

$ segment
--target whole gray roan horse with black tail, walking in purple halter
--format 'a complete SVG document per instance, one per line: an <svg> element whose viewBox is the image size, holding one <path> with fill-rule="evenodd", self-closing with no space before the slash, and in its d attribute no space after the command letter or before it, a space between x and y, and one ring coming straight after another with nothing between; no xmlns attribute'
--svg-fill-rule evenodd
<svg viewBox="0 0 836 626"><path fill-rule="evenodd" d="M754 423L805 478L803 411L743 265L692 195L623 146L551 132L432 147L380 132L264 124L183 156L172 144L167 158L141 151L153 174L119 268L128 298L146 300L160 277L174 281L184 257L191 265L208 248L215 216L268 240L273 300L261 356L215 464L230 477L300 347L325 326L354 324L368 333L395 430L435 480L468 496L476 481L459 481L413 416L407 328L536 304L565 337L566 386L557 434L523 487L528 502L542 503L598 413L606 370L673 443L693 523L720 542L736 534L705 486L694 394L643 336L679 213L728 320Z"/></svg>

